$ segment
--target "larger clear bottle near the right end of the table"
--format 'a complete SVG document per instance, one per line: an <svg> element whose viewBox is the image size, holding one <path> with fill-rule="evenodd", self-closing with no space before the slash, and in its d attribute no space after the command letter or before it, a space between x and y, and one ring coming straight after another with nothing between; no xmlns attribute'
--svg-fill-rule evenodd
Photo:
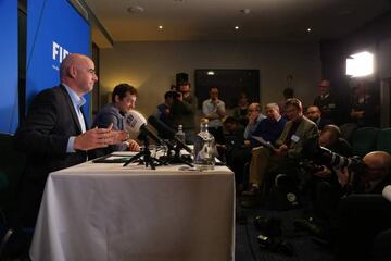
<svg viewBox="0 0 391 261"><path fill-rule="evenodd" d="M194 166L198 170L213 170L215 165L216 144L207 132L207 120L202 119L200 133L194 138Z"/></svg>

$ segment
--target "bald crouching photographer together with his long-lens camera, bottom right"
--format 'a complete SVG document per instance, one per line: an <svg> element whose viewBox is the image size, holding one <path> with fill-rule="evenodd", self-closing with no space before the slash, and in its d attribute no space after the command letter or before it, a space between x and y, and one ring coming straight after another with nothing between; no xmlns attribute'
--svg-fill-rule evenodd
<svg viewBox="0 0 391 261"><path fill-rule="evenodd" d="M312 226L312 231L336 243L337 260L390 258L373 247L375 237L391 228L391 203L381 196L391 184L391 156L373 151L363 159L346 158L319 146L319 141L306 145L305 149L314 161L333 169L339 182L339 187L329 191L339 198L330 226L323 229Z"/></svg>

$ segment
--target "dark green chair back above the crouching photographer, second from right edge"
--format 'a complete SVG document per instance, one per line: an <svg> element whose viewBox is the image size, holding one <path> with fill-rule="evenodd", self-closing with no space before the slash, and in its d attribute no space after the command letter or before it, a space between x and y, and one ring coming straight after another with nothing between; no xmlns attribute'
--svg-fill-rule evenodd
<svg viewBox="0 0 391 261"><path fill-rule="evenodd" d="M376 150L376 140L379 129L375 127L358 128L352 136L353 154L364 157L366 153Z"/></svg>

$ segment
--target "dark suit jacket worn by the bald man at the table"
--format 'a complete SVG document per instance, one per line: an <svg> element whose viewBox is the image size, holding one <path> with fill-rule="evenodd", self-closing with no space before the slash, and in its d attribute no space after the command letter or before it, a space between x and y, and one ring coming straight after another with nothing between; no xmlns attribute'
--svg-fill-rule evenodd
<svg viewBox="0 0 391 261"><path fill-rule="evenodd" d="M68 138L80 134L80 124L64 86L38 94L15 135L17 148L27 154L26 178L45 182L50 172L85 162L85 151L66 153Z"/></svg>

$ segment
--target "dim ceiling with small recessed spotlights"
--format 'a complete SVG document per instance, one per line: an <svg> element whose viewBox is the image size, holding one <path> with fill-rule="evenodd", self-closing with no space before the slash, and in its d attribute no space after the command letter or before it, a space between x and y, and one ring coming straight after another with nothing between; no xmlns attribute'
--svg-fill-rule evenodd
<svg viewBox="0 0 391 261"><path fill-rule="evenodd" d="M84 1L113 41L318 41L390 10L389 0Z"/></svg>

